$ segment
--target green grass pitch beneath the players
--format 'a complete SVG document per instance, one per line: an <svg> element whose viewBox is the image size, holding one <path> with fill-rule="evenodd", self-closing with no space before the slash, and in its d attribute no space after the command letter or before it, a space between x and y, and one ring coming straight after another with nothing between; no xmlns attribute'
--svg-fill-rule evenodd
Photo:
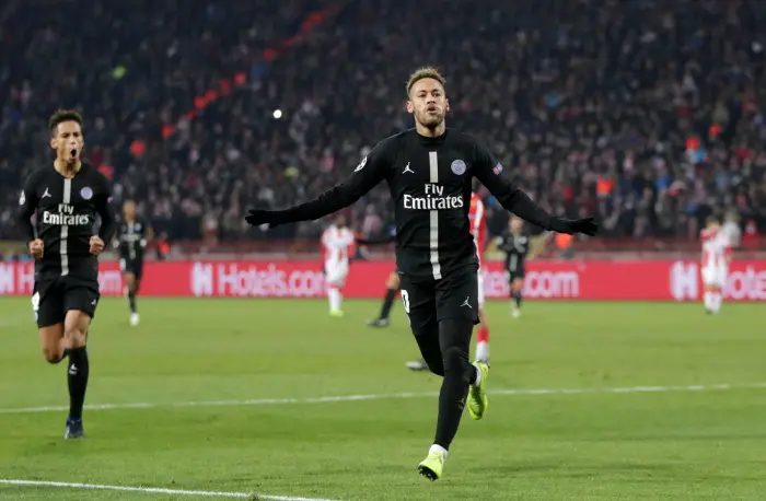
<svg viewBox="0 0 766 501"><path fill-rule="evenodd" d="M124 301L101 304L86 404L148 406L85 410L86 439L65 442L66 410L9 412L68 397L28 300L0 299L0 479L332 500L766 499L764 305L711 317L699 304L529 302L513 319L490 303L489 410L466 412L433 483L416 466L439 378L405 369L417 351L401 304L379 330L364 325L378 301L347 301L344 318L313 300L139 307L131 328ZM372 397L317 398L350 395ZM231 401L186 405L210 400ZM0 483L0 499L220 498Z"/></svg>

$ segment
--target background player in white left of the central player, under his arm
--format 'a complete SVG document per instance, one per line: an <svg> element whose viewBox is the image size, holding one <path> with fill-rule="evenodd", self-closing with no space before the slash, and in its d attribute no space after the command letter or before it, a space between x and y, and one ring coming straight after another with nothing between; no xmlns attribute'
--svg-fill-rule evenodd
<svg viewBox="0 0 766 501"><path fill-rule="evenodd" d="M329 314L343 316L343 293L340 292L348 275L349 258L353 254L353 232L346 225L346 218L338 215L335 222L322 234L324 250L325 276L327 281L327 299Z"/></svg>

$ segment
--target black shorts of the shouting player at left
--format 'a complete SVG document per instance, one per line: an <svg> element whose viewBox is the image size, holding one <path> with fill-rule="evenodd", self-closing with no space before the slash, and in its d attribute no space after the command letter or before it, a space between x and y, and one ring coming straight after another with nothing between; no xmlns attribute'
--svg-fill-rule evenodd
<svg viewBox="0 0 766 501"><path fill-rule="evenodd" d="M58 277L35 281L32 310L37 327L43 328L63 324L70 310L80 310L93 318L100 299L97 280Z"/></svg>

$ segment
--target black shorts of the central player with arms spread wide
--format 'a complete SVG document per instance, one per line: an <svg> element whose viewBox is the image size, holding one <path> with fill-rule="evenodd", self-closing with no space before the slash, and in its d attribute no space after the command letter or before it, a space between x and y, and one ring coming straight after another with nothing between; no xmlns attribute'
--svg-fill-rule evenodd
<svg viewBox="0 0 766 501"><path fill-rule="evenodd" d="M450 273L441 280L413 280L402 276L402 303L409 326L418 333L438 329L444 318L466 318L478 324L477 270Z"/></svg>

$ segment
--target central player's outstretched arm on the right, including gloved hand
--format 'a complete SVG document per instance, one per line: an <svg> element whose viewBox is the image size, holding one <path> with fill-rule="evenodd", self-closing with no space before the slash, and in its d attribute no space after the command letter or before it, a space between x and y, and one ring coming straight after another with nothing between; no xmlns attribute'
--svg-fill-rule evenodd
<svg viewBox="0 0 766 501"><path fill-rule="evenodd" d="M546 230L557 233L584 233L595 235L599 224L593 218L562 219L547 213L535 203L524 191L502 176L502 165L491 158L480 147L476 147L476 163L474 176L495 195L500 205L520 217Z"/></svg>

